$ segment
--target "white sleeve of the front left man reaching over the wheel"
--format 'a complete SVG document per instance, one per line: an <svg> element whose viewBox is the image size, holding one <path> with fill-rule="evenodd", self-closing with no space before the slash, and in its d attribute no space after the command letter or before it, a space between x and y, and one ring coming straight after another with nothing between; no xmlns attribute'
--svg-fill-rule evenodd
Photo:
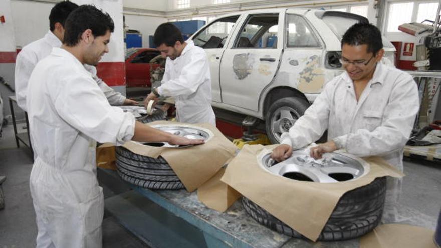
<svg viewBox="0 0 441 248"><path fill-rule="evenodd" d="M100 143L122 145L135 131L135 117L112 107L94 80L73 75L51 92L57 113L70 125Z"/></svg>

